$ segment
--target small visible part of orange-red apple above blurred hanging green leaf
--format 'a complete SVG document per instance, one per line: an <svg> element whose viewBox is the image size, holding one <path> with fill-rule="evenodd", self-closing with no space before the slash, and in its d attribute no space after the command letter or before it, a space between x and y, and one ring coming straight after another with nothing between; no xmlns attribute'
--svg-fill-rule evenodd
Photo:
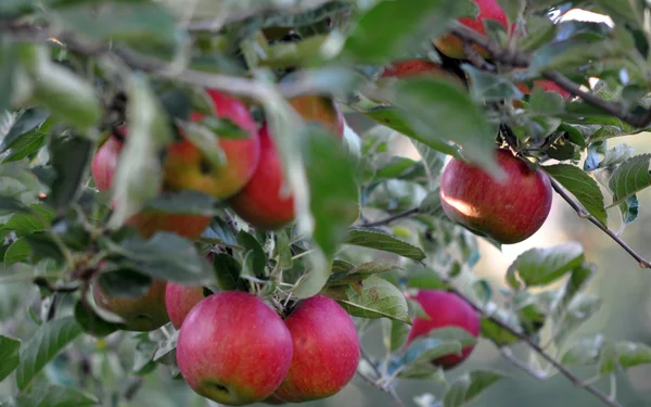
<svg viewBox="0 0 651 407"><path fill-rule="evenodd" d="M319 123L340 138L344 137L344 113L332 98L307 94L290 100L303 119Z"/></svg>

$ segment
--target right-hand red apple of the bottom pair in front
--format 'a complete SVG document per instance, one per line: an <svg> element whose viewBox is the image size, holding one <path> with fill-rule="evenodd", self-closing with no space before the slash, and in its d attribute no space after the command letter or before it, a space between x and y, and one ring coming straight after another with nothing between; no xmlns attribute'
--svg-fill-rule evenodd
<svg viewBox="0 0 651 407"><path fill-rule="evenodd" d="M360 345L350 316L334 300L316 295L285 318L294 356L276 396L290 403L330 397L355 376Z"/></svg>

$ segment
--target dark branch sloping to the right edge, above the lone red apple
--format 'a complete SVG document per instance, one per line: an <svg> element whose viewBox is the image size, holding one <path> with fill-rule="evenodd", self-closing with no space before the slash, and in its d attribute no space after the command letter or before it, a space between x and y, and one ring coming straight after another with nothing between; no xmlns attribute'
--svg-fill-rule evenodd
<svg viewBox="0 0 651 407"><path fill-rule="evenodd" d="M490 56L497 62L513 67L524 68L528 67L531 64L531 55L516 50L506 50L490 38L465 27L462 24L456 23L450 31L465 42L476 43L485 48ZM592 93L583 91L578 85L574 84L572 80L567 79L564 75L557 71L544 71L541 72L541 76L556 82L570 93L579 97L586 103L598 107L631 126L644 127L651 123L651 110L644 110L642 114L626 113L620 103L609 102Z"/></svg>

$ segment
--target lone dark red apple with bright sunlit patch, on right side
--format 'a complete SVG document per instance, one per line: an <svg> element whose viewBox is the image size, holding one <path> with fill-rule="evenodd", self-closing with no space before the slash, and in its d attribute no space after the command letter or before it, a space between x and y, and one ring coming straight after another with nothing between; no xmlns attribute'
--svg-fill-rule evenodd
<svg viewBox="0 0 651 407"><path fill-rule="evenodd" d="M532 170L508 150L497 150L498 165L507 174L499 183L480 167L452 158L441 179L445 214L468 229L502 244L534 234L549 215L552 190L547 175Z"/></svg>

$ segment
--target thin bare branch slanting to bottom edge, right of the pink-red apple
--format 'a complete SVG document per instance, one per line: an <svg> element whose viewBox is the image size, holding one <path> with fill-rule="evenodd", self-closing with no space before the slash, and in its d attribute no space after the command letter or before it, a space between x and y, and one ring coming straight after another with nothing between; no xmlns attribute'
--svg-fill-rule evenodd
<svg viewBox="0 0 651 407"><path fill-rule="evenodd" d="M580 389L585 389L587 392L589 392L590 394L595 395L597 398L599 398L601 402L603 402L603 404L611 406L611 407L623 407L620 403L617 403L617 400L612 399L611 397L609 397L605 393L601 392L599 389L595 387L593 385L584 382L579 377L577 377L576 374L574 374L572 371L570 371L567 368L565 368L563 365L561 365L561 363L559 363L558 360L556 360L551 355L549 355L547 352L545 352L545 349L542 349L533 339L531 339L529 336L527 336L526 334L516 331L515 329L511 328L509 325L502 322L501 320L495 318L494 316L489 315L486 310L484 310L481 306L476 305L472 300L470 300L468 296L463 295L461 292L459 292L457 289L450 287L448 289L448 291L459 295L461 298L463 298L471 307L473 307L482 317L488 319L489 321L496 323L497 326L499 326L501 329L508 331L509 333L511 333L512 335L516 336L518 339L520 339L522 342L526 343L532 351L534 351L535 353L537 353L538 355L540 355L540 357L545 360L547 360L551 366L553 366L561 374L563 374L565 378L567 378L572 384L574 384L577 387ZM498 346L500 349L503 349L502 346L499 346L496 344L496 346ZM503 354L503 352L502 352ZM510 360L512 360L512 358L509 358ZM522 366L522 364L518 363L515 364L516 367L524 369L524 367ZM533 371L528 368L524 369L527 373L532 374ZM537 376L536 376L537 377Z"/></svg>

